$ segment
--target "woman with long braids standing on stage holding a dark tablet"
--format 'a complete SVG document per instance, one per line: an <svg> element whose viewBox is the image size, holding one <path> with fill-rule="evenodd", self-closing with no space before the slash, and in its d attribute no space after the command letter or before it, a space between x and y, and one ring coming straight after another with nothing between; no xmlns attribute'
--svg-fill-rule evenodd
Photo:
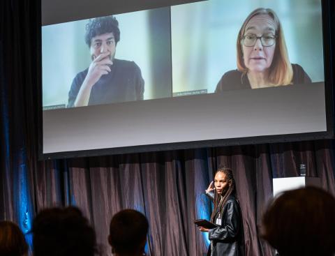
<svg viewBox="0 0 335 256"><path fill-rule="evenodd" d="M217 225L212 229L199 227L200 231L208 232L211 241L207 256L244 256L241 209L230 168L221 167L216 171L206 195L214 202L211 223Z"/></svg>

